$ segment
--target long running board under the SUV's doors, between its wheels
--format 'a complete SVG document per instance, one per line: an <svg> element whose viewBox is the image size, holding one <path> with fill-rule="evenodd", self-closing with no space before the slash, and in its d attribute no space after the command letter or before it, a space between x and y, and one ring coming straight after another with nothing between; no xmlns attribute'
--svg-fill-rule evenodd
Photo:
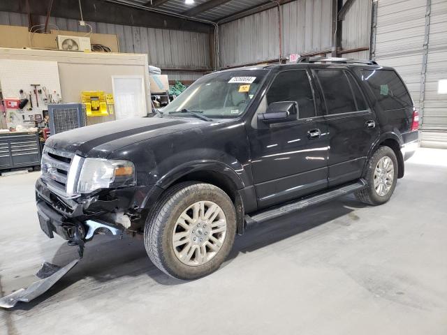
<svg viewBox="0 0 447 335"><path fill-rule="evenodd" d="M293 213L294 211L300 211L310 206L314 206L315 204L321 204L323 202L327 202L329 200L338 198L342 195L346 195L349 193L353 193L356 191L360 191L367 186L367 181L365 179L359 179L356 183L344 185L338 188L332 188L330 191L325 193L321 193L318 195L314 195L310 198L302 199L298 202L293 202L291 204L286 204L282 207L278 207L275 209L267 209L266 211L262 211L254 216L245 216L245 222L247 225L251 223L259 223L271 220L272 218L278 218L279 216L283 216L289 213Z"/></svg>

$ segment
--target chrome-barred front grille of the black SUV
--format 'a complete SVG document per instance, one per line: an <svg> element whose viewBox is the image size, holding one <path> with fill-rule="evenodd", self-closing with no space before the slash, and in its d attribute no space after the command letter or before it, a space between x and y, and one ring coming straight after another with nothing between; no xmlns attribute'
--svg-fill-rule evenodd
<svg viewBox="0 0 447 335"><path fill-rule="evenodd" d="M45 147L42 154L42 178L47 185L59 194L66 194L68 171L74 154Z"/></svg>

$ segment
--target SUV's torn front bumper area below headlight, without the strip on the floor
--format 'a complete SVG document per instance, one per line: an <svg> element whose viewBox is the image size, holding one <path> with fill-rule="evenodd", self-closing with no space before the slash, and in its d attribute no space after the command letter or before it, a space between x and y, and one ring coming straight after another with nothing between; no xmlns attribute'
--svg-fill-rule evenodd
<svg viewBox="0 0 447 335"><path fill-rule="evenodd" d="M156 186L154 186L156 188ZM142 227L141 211L152 186L135 186L106 190L94 195L71 199L52 192L45 180L36 181L36 205L41 229L52 239L54 233L80 246L96 232L119 235L124 230L138 231Z"/></svg>

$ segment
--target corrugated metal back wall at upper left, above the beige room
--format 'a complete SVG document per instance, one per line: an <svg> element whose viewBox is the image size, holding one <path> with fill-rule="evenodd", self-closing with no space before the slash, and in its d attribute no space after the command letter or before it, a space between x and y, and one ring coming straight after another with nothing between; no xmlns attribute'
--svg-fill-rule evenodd
<svg viewBox="0 0 447 335"><path fill-rule="evenodd" d="M45 17L39 17L45 22ZM117 34L121 52L148 54L149 64L159 68L194 68L210 70L209 34L191 31L154 29L147 27L124 26L101 22L87 22L94 33ZM0 24L28 26L27 15L0 12ZM50 17L50 24L56 24L60 30L85 31L76 20ZM169 72L166 72L170 74ZM191 80L201 73L175 72L175 79Z"/></svg>

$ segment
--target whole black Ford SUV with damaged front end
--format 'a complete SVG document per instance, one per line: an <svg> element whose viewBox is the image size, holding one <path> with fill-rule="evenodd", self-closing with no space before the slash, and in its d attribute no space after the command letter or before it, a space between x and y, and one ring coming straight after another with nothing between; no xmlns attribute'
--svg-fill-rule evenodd
<svg viewBox="0 0 447 335"><path fill-rule="evenodd" d="M355 193L387 202L418 144L393 68L307 59L205 75L155 117L51 136L36 183L41 228L80 247L144 234L166 274L219 268L252 222Z"/></svg>

